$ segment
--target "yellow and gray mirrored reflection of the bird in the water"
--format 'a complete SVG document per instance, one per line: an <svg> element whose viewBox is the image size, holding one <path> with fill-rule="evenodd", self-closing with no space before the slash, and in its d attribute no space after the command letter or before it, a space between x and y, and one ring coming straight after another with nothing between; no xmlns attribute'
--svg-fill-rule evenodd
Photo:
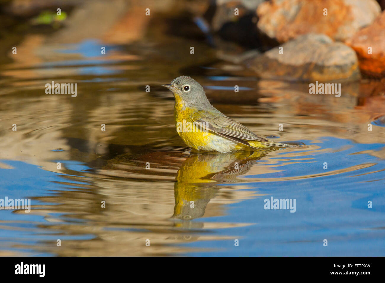
<svg viewBox="0 0 385 283"><path fill-rule="evenodd" d="M249 171L256 160L269 151L192 153L177 172L174 184L173 218L191 220L203 216L206 205L216 196L219 183L234 183L239 175ZM198 223L197 223L198 224ZM191 226L185 223L182 226Z"/></svg>

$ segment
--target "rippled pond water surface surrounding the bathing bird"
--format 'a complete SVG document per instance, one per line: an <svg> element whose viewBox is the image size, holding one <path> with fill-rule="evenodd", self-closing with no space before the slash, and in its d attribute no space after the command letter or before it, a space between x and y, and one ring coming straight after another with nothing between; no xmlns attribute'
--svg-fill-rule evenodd
<svg viewBox="0 0 385 283"><path fill-rule="evenodd" d="M26 35L3 60L0 198L30 198L32 209L0 211L0 255L385 255L379 82L310 95L219 60L202 40L190 55L191 41L152 29L126 44ZM259 135L304 146L190 152L160 86L179 75ZM77 83L77 97L45 94L52 80ZM271 196L296 199L295 213L264 209Z"/></svg>

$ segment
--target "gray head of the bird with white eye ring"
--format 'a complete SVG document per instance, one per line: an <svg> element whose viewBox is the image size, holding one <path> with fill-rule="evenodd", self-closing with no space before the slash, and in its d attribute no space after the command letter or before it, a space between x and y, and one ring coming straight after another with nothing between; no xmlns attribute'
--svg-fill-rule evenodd
<svg viewBox="0 0 385 283"><path fill-rule="evenodd" d="M204 109L211 106L203 87L196 80L188 76L173 79L171 84L162 85L174 94L175 100L184 107L196 107Z"/></svg>

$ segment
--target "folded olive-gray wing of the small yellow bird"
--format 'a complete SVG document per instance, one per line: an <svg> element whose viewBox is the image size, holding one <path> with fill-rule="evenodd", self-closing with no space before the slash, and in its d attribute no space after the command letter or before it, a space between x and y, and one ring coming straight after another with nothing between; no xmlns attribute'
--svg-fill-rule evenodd
<svg viewBox="0 0 385 283"><path fill-rule="evenodd" d="M216 134L219 134L221 136L224 135L226 137L235 138L237 139L237 141L241 140L241 141L268 142L267 139L257 136L256 134L251 132L248 128L243 126L241 123L227 116L216 116L216 117L203 116L203 117L199 117L199 119L194 119L194 120L196 122L202 122L204 126L207 125L209 131L215 132Z"/></svg>

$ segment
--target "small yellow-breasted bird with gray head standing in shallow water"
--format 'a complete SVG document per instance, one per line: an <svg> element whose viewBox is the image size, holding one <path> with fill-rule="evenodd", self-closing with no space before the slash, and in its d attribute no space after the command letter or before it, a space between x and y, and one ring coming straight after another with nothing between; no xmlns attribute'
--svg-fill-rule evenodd
<svg viewBox="0 0 385 283"><path fill-rule="evenodd" d="M211 105L202 85L189 76L177 77L162 86L174 94L174 120L179 136L195 151L235 152L298 147L257 136L227 117Z"/></svg>

